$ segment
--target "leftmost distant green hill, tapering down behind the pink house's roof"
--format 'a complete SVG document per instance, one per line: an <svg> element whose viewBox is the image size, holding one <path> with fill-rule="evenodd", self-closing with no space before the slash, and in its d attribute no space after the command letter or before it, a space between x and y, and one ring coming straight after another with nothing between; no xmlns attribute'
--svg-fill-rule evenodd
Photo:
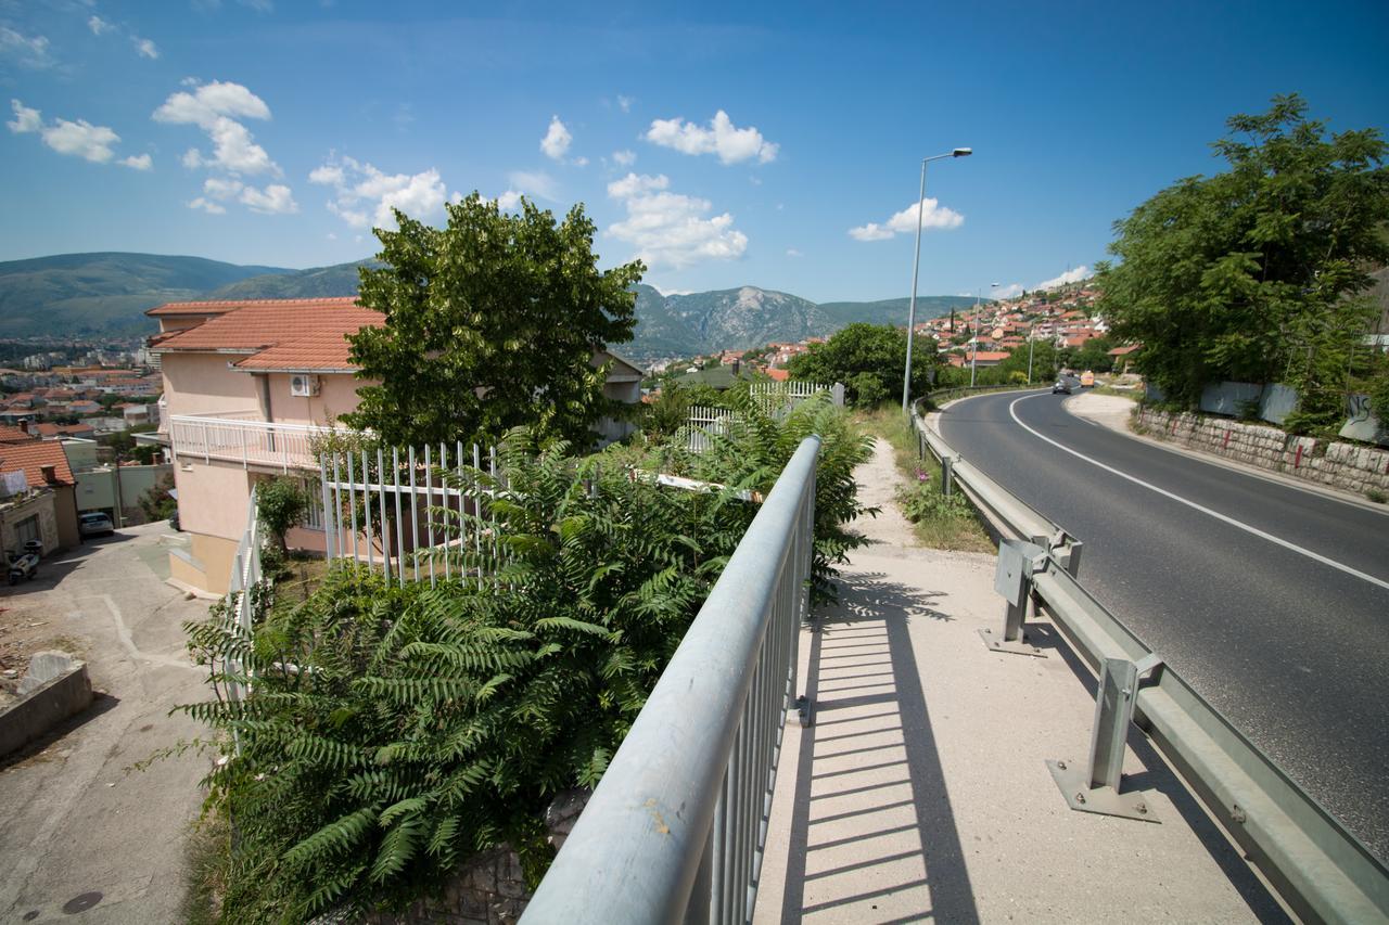
<svg viewBox="0 0 1389 925"><path fill-rule="evenodd" d="M0 262L0 338L140 333L151 329L146 308L197 299L247 276L288 272L157 254L11 260Z"/></svg>

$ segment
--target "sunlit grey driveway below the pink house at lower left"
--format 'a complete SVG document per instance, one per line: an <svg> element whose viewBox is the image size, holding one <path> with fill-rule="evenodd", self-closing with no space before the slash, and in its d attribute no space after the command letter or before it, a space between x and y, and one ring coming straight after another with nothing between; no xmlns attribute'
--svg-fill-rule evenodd
<svg viewBox="0 0 1389 925"><path fill-rule="evenodd" d="M118 531L43 560L33 582L0 589L0 624L88 660L103 692L0 769L0 921L176 922L183 854L208 758L132 765L203 731L174 704L204 699L181 625L207 615L164 583L164 522ZM15 631L17 628L17 631ZM50 644L51 644L50 642Z"/></svg>

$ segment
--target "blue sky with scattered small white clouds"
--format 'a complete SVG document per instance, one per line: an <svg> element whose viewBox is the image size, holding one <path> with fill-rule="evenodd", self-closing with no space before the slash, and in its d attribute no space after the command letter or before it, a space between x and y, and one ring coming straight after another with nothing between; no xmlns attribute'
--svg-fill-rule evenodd
<svg viewBox="0 0 1389 925"><path fill-rule="evenodd" d="M0 260L307 268L392 207L582 203L663 292L1081 276L1113 224L1301 93L1389 128L1389 3L0 0ZM993 285L997 283L997 288Z"/></svg>

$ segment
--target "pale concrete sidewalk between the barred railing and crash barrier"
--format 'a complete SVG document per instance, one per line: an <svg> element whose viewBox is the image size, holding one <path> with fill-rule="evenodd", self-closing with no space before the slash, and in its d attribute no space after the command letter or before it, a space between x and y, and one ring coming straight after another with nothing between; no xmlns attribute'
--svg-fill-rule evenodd
<svg viewBox="0 0 1389 925"><path fill-rule="evenodd" d="M879 442L860 482L895 478ZM1045 622L1046 658L989 651L995 558L889 514L801 638L815 724L786 728L754 921L1286 921L1136 731L1125 789L1160 824L1067 808L1045 760L1085 760L1093 675Z"/></svg>

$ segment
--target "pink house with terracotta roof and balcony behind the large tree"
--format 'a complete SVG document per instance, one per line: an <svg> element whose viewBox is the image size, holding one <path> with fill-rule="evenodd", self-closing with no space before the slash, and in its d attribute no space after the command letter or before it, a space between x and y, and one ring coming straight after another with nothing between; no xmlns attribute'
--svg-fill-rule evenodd
<svg viewBox="0 0 1389 925"><path fill-rule="evenodd" d="M160 360L160 432L174 457L179 525L189 549L171 553L174 579L224 593L246 526L250 492L281 474L318 475L314 443L357 407L365 385L347 336L382 326L381 312L342 299L168 303L146 312L160 322L149 350ZM613 351L604 393L635 404L646 371ZM632 425L603 421L600 439ZM144 436L144 435L138 435ZM290 531L292 547L322 551L321 526Z"/></svg>

